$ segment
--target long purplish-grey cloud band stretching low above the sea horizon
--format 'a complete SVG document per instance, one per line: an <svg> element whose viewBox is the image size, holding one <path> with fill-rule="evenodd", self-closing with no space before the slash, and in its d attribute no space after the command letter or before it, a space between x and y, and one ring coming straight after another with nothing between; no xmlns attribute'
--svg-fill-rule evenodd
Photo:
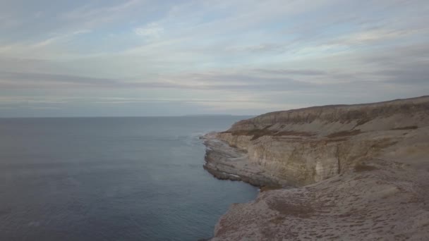
<svg viewBox="0 0 429 241"><path fill-rule="evenodd" d="M91 78L79 75L47 73L0 72L0 87L52 89L53 87L109 87L157 89L222 89L222 90L279 90L309 87L310 83L289 78L267 78L239 74L189 74L164 76L156 81L138 79Z"/></svg>

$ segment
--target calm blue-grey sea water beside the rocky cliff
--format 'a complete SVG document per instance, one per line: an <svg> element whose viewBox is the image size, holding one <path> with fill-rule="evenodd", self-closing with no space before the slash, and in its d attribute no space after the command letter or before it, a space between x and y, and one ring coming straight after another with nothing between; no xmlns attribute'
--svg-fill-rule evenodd
<svg viewBox="0 0 429 241"><path fill-rule="evenodd" d="M243 118L0 119L0 240L211 237L258 191L205 172L198 136Z"/></svg>

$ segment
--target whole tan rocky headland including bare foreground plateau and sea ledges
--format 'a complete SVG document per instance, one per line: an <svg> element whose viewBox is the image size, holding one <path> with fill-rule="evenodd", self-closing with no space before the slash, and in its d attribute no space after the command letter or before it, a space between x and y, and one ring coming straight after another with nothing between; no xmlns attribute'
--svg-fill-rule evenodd
<svg viewBox="0 0 429 241"><path fill-rule="evenodd" d="M296 187L232 206L214 240L429 238L429 97L266 113L204 138L217 178Z"/></svg>

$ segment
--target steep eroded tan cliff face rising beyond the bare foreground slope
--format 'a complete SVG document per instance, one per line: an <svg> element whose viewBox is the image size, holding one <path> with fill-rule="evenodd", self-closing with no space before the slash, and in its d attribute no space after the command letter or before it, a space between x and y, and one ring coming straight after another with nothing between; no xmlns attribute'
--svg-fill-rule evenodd
<svg viewBox="0 0 429 241"><path fill-rule="evenodd" d="M429 97L267 113L217 133L269 176L301 186L415 139L429 125Z"/></svg>

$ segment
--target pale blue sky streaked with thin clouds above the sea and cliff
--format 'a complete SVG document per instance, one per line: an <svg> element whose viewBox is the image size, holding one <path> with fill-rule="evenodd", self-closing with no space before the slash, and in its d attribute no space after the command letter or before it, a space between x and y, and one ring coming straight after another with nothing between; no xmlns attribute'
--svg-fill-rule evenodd
<svg viewBox="0 0 429 241"><path fill-rule="evenodd" d="M0 117L255 115L429 94L428 0L0 6Z"/></svg>

